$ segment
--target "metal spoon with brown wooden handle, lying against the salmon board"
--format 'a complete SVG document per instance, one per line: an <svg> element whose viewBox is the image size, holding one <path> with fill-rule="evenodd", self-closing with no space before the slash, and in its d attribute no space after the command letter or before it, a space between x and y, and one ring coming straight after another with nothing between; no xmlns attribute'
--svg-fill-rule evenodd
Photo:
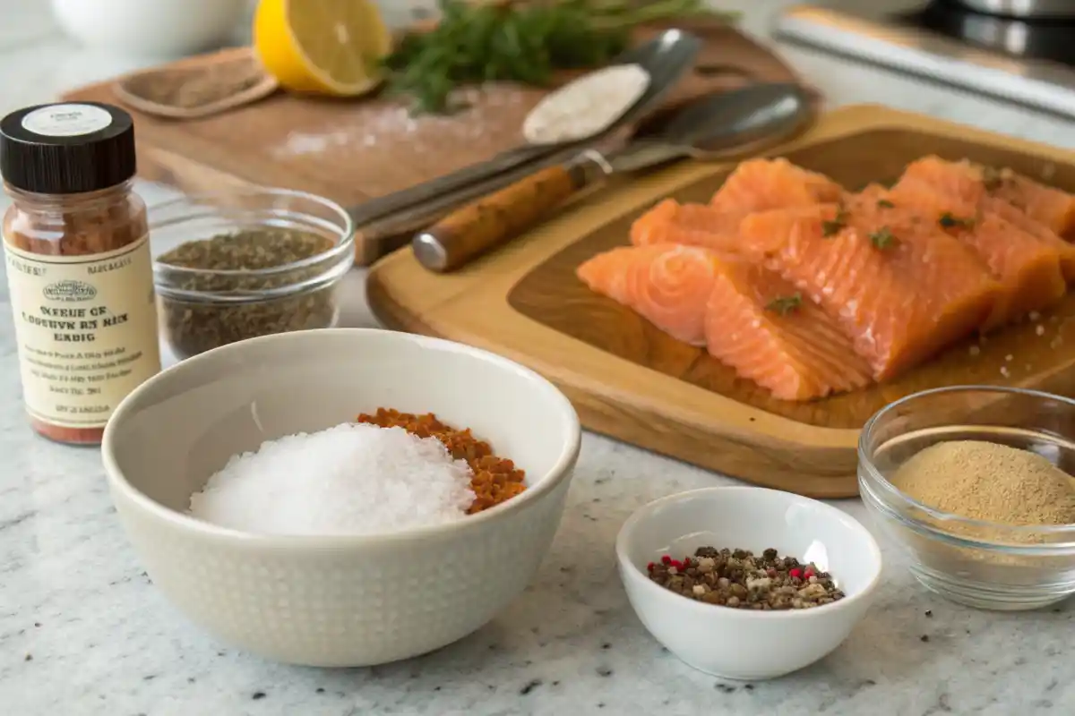
<svg viewBox="0 0 1075 716"><path fill-rule="evenodd" d="M432 272L454 271L614 174L683 157L714 161L757 152L799 133L812 118L809 96L793 84L754 85L697 100L655 136L607 154L586 149L454 211L414 237L415 257Z"/></svg>

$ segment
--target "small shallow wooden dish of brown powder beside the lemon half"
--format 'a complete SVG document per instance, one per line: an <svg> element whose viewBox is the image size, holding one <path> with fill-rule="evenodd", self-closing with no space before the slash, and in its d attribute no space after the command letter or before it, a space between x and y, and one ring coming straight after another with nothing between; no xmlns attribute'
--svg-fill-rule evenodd
<svg viewBox="0 0 1075 716"><path fill-rule="evenodd" d="M202 82L199 84L198 81ZM225 97L207 88L216 79L238 86ZM186 88L183 88L186 85ZM257 102L280 88L274 77L261 67L250 47L231 47L210 55L198 55L152 70L142 70L116 79L113 93L132 108L169 119L197 119ZM173 102L156 99L170 93ZM209 94L198 101L198 94Z"/></svg>

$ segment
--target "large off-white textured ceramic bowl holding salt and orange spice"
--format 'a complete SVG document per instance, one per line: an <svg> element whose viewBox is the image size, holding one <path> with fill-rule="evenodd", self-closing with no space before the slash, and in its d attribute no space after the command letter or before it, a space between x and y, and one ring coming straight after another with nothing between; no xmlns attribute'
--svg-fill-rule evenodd
<svg viewBox="0 0 1075 716"><path fill-rule="evenodd" d="M368 537L267 537L185 514L234 453L390 407L469 426L527 471L521 495L444 526ZM459 344L330 328L253 338L161 372L116 409L103 457L154 584L233 646L349 667L433 651L530 582L563 511L578 418L538 374Z"/></svg>

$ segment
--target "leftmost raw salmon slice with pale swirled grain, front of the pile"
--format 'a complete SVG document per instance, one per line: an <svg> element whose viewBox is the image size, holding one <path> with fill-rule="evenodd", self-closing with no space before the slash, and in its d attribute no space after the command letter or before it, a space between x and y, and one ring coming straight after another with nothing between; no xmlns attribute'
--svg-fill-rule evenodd
<svg viewBox="0 0 1075 716"><path fill-rule="evenodd" d="M591 291L632 308L673 338L704 346L705 306L719 268L719 255L708 249L653 244L599 253L576 274Z"/></svg>

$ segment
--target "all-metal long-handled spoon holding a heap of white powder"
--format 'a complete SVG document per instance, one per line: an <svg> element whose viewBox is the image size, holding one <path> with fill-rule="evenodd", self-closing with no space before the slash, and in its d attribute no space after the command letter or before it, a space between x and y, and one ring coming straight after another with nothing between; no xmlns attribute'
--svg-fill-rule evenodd
<svg viewBox="0 0 1075 716"><path fill-rule="evenodd" d="M679 78L693 67L694 59L701 49L702 41L698 36L683 30L665 30L654 40L617 56L612 64L633 63L641 65L649 73L649 86L637 101L603 134L614 132L656 108ZM479 164L465 166L452 174L352 207L348 213L355 224L361 229L370 222L384 219L412 206L425 204L465 186L490 179L524 163L562 151L564 148L582 148L592 138L579 138L561 145L524 145L501 152Z"/></svg>

